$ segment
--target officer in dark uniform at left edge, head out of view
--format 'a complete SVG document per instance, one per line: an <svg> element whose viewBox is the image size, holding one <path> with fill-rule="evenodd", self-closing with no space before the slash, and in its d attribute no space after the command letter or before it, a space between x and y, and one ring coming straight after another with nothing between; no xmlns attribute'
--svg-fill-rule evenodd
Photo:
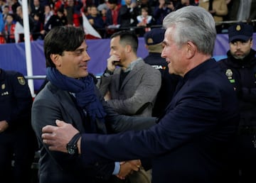
<svg viewBox="0 0 256 183"><path fill-rule="evenodd" d="M31 182L36 139L32 96L23 75L0 68L0 182Z"/></svg>

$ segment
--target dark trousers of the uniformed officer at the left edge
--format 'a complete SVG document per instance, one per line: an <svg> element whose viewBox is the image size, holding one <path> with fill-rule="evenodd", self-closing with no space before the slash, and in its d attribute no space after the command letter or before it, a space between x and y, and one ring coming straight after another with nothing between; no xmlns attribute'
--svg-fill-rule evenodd
<svg viewBox="0 0 256 183"><path fill-rule="evenodd" d="M28 131L0 133L1 183L31 182L35 142L35 136Z"/></svg>

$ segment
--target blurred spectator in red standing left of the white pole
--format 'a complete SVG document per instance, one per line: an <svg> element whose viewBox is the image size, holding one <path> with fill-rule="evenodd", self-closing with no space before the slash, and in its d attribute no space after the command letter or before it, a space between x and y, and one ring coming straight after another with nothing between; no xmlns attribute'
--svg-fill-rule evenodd
<svg viewBox="0 0 256 183"><path fill-rule="evenodd" d="M6 17L6 23L4 26L4 37L6 43L15 43L15 23L14 23L14 16L12 14L8 14Z"/></svg>

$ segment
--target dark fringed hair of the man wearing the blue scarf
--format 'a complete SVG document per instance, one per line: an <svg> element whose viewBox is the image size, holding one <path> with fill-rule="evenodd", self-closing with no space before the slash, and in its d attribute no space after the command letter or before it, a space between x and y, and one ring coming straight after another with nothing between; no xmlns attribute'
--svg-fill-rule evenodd
<svg viewBox="0 0 256 183"><path fill-rule="evenodd" d="M51 54L63 55L64 51L74 51L85 41L85 31L82 28L57 26L50 30L44 38L44 53L46 67L55 67L50 59Z"/></svg>

